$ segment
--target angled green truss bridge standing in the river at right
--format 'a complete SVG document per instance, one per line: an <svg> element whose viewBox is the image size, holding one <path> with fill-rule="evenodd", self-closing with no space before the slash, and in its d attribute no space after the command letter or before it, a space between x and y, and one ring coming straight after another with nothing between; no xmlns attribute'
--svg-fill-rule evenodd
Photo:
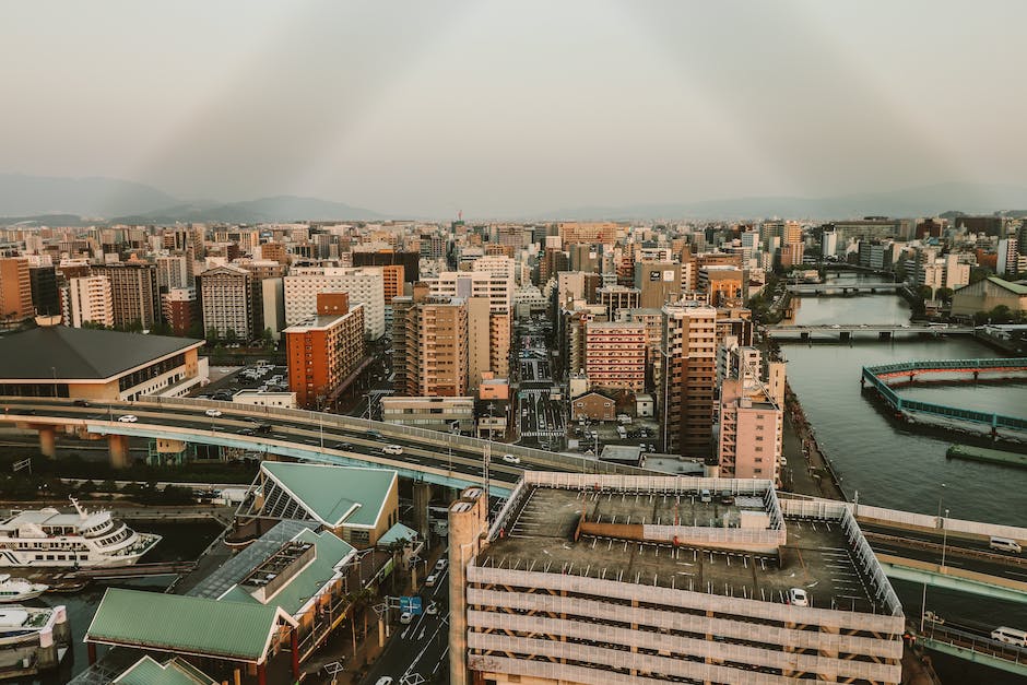
<svg viewBox="0 0 1027 685"><path fill-rule="evenodd" d="M1027 357L926 359L920 362L902 362L899 364L884 364L881 366L864 366L860 385L864 389L876 391L877 394L899 414L926 414L948 421L985 425L991 427L992 435L996 435L1000 429L1020 433L1027 432L1027 418L904 399L887 381L889 379L900 378L906 382L913 382L918 377L926 374L970 374L973 376L973 379L977 380L982 375L1023 373L1027 373Z"/></svg>

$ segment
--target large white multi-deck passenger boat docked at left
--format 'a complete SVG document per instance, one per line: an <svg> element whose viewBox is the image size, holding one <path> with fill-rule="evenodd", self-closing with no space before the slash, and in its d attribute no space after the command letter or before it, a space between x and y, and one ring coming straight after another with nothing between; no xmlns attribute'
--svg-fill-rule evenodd
<svg viewBox="0 0 1027 685"><path fill-rule="evenodd" d="M72 498L74 513L52 507L12 511L0 521L0 567L130 566L161 541L137 533L109 511L86 511Z"/></svg>

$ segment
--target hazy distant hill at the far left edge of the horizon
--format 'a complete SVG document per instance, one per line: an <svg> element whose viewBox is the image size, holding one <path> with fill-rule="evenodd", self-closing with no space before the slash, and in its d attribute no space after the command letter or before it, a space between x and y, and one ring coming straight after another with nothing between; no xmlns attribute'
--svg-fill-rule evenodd
<svg viewBox="0 0 1027 685"><path fill-rule="evenodd" d="M152 212L181 200L114 178L51 178L0 174L0 216L116 216Z"/></svg>

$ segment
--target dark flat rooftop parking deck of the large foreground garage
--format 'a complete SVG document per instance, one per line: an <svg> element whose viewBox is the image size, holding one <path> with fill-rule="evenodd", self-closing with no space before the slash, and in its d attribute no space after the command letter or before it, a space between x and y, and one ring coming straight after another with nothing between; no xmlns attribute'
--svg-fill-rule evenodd
<svg viewBox="0 0 1027 685"><path fill-rule="evenodd" d="M492 542L480 566L574 574L725 597L787 603L791 588L803 588L811 604L862 613L884 610L873 601L872 582L840 522L786 518L787 543L780 554L724 551L670 543L638 542L574 533L587 508L602 523L721 527L737 524L740 511L763 511L760 497L733 504L699 501L698 494L634 494L533 486L510 512L504 536Z"/></svg>

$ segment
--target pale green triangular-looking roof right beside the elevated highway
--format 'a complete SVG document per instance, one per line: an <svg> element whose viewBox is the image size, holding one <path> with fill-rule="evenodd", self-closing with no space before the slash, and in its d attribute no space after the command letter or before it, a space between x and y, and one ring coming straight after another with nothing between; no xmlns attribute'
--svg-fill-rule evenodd
<svg viewBox="0 0 1027 685"><path fill-rule="evenodd" d="M260 468L324 525L374 527L396 471L264 461Z"/></svg>

